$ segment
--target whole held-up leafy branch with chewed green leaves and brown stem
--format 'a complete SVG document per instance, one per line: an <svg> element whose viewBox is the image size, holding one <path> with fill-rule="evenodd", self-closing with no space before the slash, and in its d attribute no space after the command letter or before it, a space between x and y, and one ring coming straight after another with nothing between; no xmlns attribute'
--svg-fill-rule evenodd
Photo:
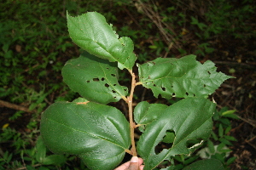
<svg viewBox="0 0 256 170"><path fill-rule="evenodd" d="M189 155L212 132L215 104L207 99L224 80L230 78L211 61L201 65L195 55L181 59L158 58L138 65L137 81L133 67L137 59L129 37L119 37L102 14L90 12L78 17L67 14L73 42L89 53L67 61L62 69L64 82L83 98L57 102L44 111L41 135L55 154L78 155L90 169L113 169L125 153L143 158L145 170L162 161L163 169L173 169L172 156ZM131 74L131 89L119 84L118 69ZM181 98L167 106L142 101L133 111L136 86L152 89L154 97ZM107 105L124 99L129 122L115 107ZM143 133L134 139L135 128ZM160 142L168 149L155 150ZM220 161L197 161L189 167L222 169Z"/></svg>

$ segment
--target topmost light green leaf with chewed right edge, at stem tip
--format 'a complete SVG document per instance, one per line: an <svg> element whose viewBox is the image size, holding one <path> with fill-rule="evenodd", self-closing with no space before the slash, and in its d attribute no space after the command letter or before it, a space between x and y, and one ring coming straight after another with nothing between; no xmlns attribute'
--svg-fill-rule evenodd
<svg viewBox="0 0 256 170"><path fill-rule="evenodd" d="M117 61L119 69L131 70L137 59L131 38L119 38L102 14L88 12L72 17L67 13L67 27L73 42L80 48L110 62Z"/></svg>

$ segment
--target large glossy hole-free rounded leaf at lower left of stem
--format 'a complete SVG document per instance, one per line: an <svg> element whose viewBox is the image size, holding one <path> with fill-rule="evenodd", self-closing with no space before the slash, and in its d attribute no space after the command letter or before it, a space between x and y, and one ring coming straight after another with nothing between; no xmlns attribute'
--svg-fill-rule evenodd
<svg viewBox="0 0 256 170"><path fill-rule="evenodd" d="M113 169L131 145L125 116L94 102L50 105L42 115L41 135L49 150L78 155L90 169Z"/></svg>

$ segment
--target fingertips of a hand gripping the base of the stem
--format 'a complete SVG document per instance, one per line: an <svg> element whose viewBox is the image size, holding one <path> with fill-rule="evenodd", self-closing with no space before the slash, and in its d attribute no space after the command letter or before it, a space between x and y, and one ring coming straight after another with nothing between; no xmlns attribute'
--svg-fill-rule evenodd
<svg viewBox="0 0 256 170"><path fill-rule="evenodd" d="M131 161L127 161L124 164L116 167L114 170L143 170L143 159L137 156L133 156Z"/></svg>

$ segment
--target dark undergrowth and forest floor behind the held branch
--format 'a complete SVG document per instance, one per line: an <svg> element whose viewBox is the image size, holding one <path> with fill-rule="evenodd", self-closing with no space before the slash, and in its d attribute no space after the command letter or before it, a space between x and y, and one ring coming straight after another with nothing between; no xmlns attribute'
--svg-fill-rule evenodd
<svg viewBox="0 0 256 170"><path fill-rule="evenodd" d="M67 34L67 11L103 14L120 37L135 42L141 64L157 57L197 54L201 62L211 59L221 71L237 77L213 94L220 114L214 117L217 123L205 147L208 156L227 168L255 166L255 1L7 0L0 5L0 169L86 169L75 156L52 155L40 140L37 143L40 113L57 100L78 96L61 77L65 62L80 53ZM119 75L125 85L125 73ZM137 89L137 102L176 101L152 96ZM126 112L122 103L111 105ZM223 114L230 110L237 110L240 120ZM159 144L159 149L165 146ZM199 157L177 156L174 163L182 168Z"/></svg>

